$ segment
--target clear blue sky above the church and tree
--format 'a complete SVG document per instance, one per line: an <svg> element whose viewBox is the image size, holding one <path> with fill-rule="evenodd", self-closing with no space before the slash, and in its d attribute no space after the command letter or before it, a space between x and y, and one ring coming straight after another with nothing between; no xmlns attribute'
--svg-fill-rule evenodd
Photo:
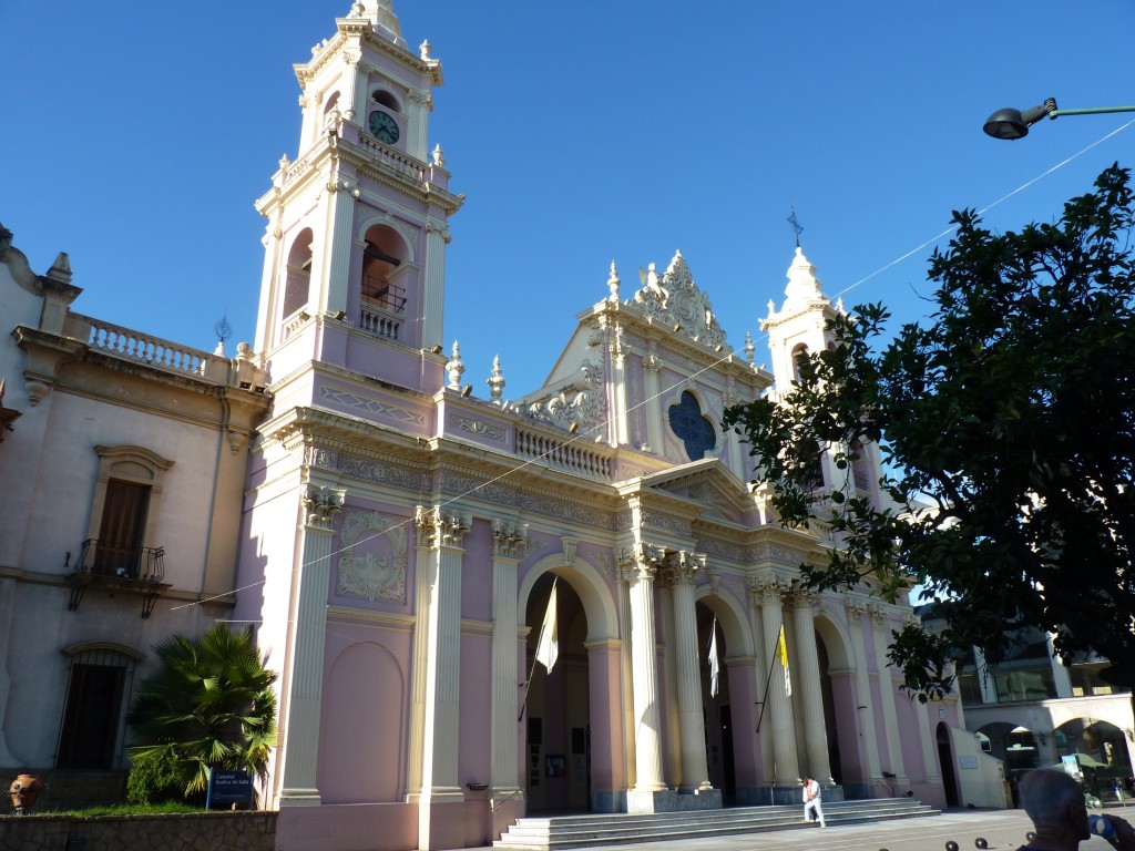
<svg viewBox="0 0 1135 851"><path fill-rule="evenodd" d="M0 221L43 273L70 254L79 312L211 349L255 327L264 222L253 201L295 158L292 64L350 0L0 0ZM616 261L675 250L733 347L758 340L794 236L825 290L925 314L950 212L999 229L1059 216L1107 165L1135 165L1133 115L981 132L1004 106L1135 102L1129 0L1068 3L395 0L446 84L430 145L451 187L446 346L487 396L539 386ZM889 268L888 268L889 267ZM883 269L883 271L878 271ZM876 272L878 272L876 275Z"/></svg>

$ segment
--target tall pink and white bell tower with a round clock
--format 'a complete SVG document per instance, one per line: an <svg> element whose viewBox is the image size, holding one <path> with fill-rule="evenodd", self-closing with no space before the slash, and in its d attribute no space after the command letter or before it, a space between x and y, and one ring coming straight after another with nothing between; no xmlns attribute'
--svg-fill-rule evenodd
<svg viewBox="0 0 1135 851"><path fill-rule="evenodd" d="M442 62L406 47L390 0L359 0L295 65L300 145L258 202L268 219L257 351L275 378L317 361L440 385L448 191L428 146ZM379 353L380 351L380 353ZM432 361L438 363L434 364Z"/></svg>

